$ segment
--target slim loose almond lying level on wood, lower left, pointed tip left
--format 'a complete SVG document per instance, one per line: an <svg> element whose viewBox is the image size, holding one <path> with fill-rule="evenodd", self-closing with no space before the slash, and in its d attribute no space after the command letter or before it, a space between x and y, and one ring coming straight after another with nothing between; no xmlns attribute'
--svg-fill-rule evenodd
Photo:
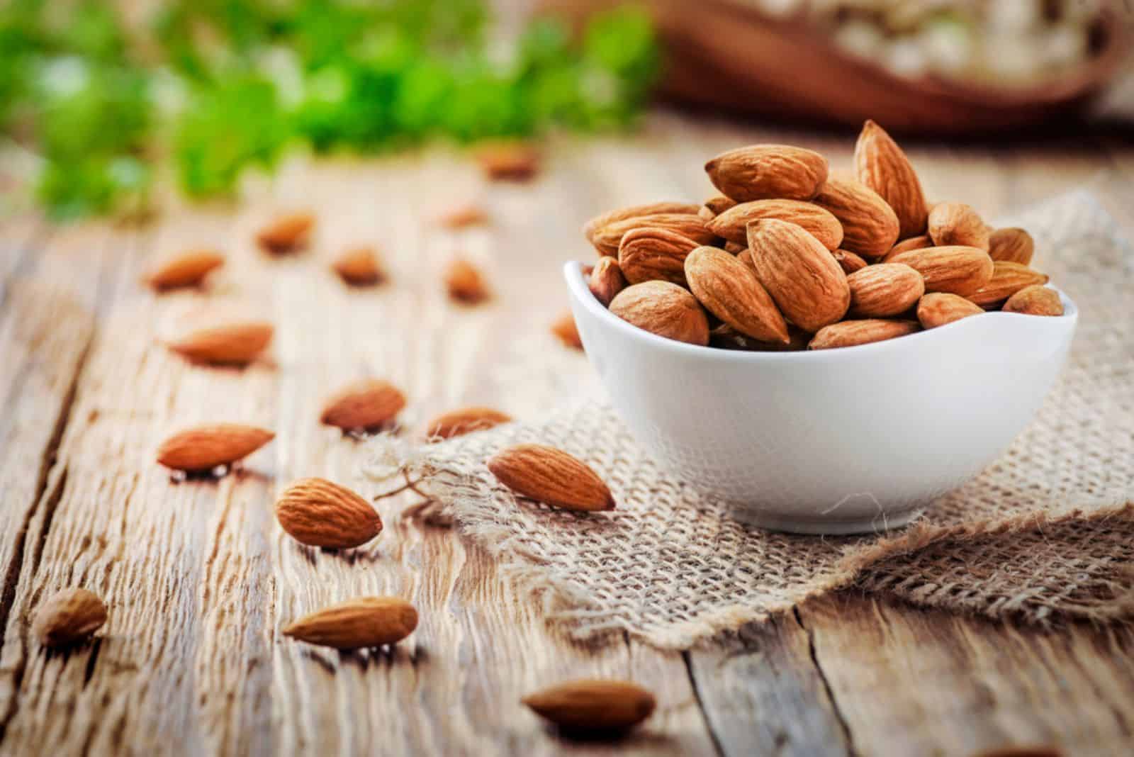
<svg viewBox="0 0 1134 757"><path fill-rule="evenodd" d="M301 618L284 636L335 649L396 644L417 628L417 611L400 597L358 597Z"/></svg>

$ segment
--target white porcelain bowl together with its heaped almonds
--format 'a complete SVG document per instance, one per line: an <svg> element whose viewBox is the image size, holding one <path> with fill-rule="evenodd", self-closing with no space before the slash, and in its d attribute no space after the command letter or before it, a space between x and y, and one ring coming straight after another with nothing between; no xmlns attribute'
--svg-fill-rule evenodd
<svg viewBox="0 0 1134 757"><path fill-rule="evenodd" d="M1026 230L928 203L870 121L853 177L787 145L705 170L720 195L600 215L598 263L565 266L616 411L674 475L756 526L874 531L1027 425L1077 311Z"/></svg>

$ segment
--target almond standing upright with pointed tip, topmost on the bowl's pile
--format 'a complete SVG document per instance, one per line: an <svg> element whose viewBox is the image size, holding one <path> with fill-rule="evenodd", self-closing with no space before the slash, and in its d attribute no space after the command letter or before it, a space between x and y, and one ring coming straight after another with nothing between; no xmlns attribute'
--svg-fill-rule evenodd
<svg viewBox="0 0 1134 757"><path fill-rule="evenodd" d="M917 173L890 135L868 120L854 146L855 178L886 201L898 218L898 239L925 233L928 210Z"/></svg>

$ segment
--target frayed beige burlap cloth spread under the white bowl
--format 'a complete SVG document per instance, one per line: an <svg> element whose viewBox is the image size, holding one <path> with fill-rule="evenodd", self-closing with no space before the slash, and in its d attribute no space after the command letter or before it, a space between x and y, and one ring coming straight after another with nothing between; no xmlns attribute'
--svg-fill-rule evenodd
<svg viewBox="0 0 1134 757"><path fill-rule="evenodd" d="M1032 231L1042 267L1077 301L1072 356L1012 449L905 529L815 537L742 526L594 401L441 444L380 440L366 473L422 477L460 533L576 638L625 631L686 648L849 586L1033 623L1134 619L1134 252L1085 193L1002 221ZM617 509L517 501L484 466L517 442L586 460Z"/></svg>

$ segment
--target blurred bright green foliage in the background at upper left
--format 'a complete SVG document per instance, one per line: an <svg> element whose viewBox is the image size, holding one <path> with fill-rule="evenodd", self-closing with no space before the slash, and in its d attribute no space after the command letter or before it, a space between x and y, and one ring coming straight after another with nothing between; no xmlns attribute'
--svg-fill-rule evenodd
<svg viewBox="0 0 1134 757"><path fill-rule="evenodd" d="M127 29L104 0L0 2L0 130L42 158L57 216L144 204L168 156L195 197L288 146L372 153L447 137L633 124L658 71L644 12L490 44L483 0L170 0Z"/></svg>

